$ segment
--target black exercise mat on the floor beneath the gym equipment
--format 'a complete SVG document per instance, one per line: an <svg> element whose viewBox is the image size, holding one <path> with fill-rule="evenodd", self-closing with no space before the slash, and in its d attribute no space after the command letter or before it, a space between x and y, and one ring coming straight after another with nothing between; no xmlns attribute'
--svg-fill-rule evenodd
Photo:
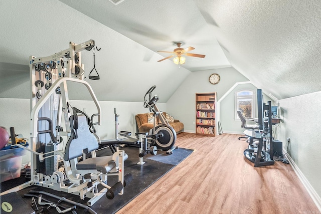
<svg viewBox="0 0 321 214"><path fill-rule="evenodd" d="M94 205L90 208L97 213L115 213L126 205L129 201L135 198L138 194L144 191L148 186L153 184L156 180L161 178L176 165L178 165L182 160L188 157L194 150L179 148L174 150L172 155L167 155L165 151L158 152L157 155L146 155L143 157L144 164L139 165L139 149L137 147L125 147L122 148L128 154L128 159L125 161L124 173L131 173L133 176L132 181L124 187L124 194L117 195L114 199L109 200L105 196L100 198ZM109 155L109 148L104 148L97 151L97 156ZM117 182L117 176L108 179L108 185L113 185ZM67 199L73 200L78 203L87 205L88 198L81 200L78 195L55 191L49 188L41 186L30 186L25 189L18 191L18 193L23 197L23 199L31 206L31 197L26 197L24 194L28 193L30 190L46 191L51 194L55 194L60 197L65 197ZM57 202L58 200L47 195L42 195L43 198L48 199L52 202ZM37 199L37 198L36 198ZM70 207L69 203L62 203L65 207ZM77 213L89 213L86 209L77 207ZM55 208L51 208L49 213L57 213ZM71 212L68 212L71 213Z"/></svg>

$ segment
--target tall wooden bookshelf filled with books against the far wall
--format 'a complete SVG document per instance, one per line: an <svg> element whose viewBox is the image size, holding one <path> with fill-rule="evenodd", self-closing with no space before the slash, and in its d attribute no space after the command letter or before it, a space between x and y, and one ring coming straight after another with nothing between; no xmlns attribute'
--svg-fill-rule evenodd
<svg viewBox="0 0 321 214"><path fill-rule="evenodd" d="M216 92L195 93L195 133L215 137Z"/></svg>

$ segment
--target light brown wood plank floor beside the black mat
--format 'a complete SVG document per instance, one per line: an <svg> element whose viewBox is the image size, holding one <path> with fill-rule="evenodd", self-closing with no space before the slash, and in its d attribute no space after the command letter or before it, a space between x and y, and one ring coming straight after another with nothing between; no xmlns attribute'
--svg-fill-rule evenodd
<svg viewBox="0 0 321 214"><path fill-rule="evenodd" d="M176 145L195 152L117 214L320 213L289 164L254 168L239 136L179 134Z"/></svg>

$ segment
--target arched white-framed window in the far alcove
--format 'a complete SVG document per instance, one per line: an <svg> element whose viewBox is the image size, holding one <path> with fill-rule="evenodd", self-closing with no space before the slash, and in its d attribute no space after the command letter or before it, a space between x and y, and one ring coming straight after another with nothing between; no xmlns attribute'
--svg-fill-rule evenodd
<svg viewBox="0 0 321 214"><path fill-rule="evenodd" d="M240 119L237 110L241 110L246 118L254 118L254 96L251 90L242 90L235 93L235 119Z"/></svg>

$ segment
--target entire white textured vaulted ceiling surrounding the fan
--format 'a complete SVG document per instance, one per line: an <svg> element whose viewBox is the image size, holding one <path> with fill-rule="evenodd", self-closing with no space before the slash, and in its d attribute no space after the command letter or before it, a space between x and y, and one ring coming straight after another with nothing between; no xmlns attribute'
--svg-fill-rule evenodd
<svg viewBox="0 0 321 214"><path fill-rule="evenodd" d="M190 72L229 66L277 99L320 91L318 0L16 0L0 12L0 62L27 66L30 55L95 40L101 80L87 81L100 100L139 102L156 85L166 102ZM206 57L158 63L175 42ZM90 71L92 53L82 62Z"/></svg>

